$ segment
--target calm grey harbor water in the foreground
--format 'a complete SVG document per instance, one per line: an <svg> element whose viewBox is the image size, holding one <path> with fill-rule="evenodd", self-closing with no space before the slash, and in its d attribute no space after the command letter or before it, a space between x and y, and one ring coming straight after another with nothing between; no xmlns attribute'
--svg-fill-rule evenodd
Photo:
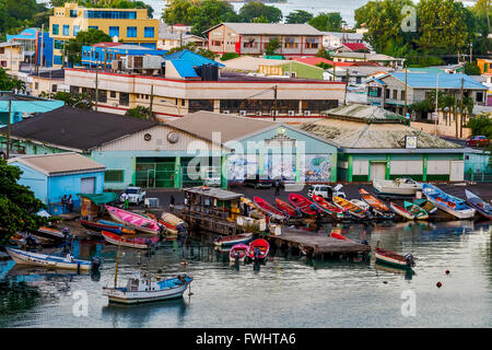
<svg viewBox="0 0 492 350"><path fill-rule="evenodd" d="M330 226L325 228L328 234ZM316 233L313 233L316 234ZM344 226L353 240L379 241L387 249L413 253L414 275L374 260L314 261L277 252L254 271L235 269L207 242L183 249L167 242L148 261L151 272L195 278L192 295L177 301L134 306L108 305L103 285L114 283L117 246L77 242L73 254L104 259L99 276L52 273L0 261L0 327L491 327L492 224L399 223ZM139 261L122 249L119 282ZM445 271L450 273L446 275ZM436 283L443 287L438 289ZM401 293L415 295L415 316L403 317ZM77 303L87 295L87 315ZM77 300L75 300L77 299Z"/></svg>

